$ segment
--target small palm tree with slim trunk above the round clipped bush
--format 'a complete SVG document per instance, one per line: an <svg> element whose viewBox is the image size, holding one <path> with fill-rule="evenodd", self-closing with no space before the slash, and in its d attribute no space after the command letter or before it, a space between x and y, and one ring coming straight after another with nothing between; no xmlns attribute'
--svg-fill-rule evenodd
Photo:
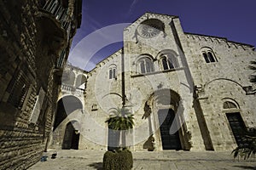
<svg viewBox="0 0 256 170"><path fill-rule="evenodd" d="M134 117L129 109L122 107L113 111L113 115L108 117L108 128L117 130L121 134L121 148L125 148L125 131L134 125Z"/></svg>

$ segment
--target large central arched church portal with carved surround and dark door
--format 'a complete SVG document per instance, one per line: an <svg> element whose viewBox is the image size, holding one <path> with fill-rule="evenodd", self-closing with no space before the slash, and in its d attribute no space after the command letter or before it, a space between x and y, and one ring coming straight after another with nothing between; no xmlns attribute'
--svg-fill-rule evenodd
<svg viewBox="0 0 256 170"><path fill-rule="evenodd" d="M152 130L157 150L189 150L189 134L184 122L183 100L171 89L160 89L145 104L149 131ZM147 113L148 112L148 113ZM150 115L151 118L150 118ZM150 133L150 132L149 132ZM151 134L151 133L150 133Z"/></svg>

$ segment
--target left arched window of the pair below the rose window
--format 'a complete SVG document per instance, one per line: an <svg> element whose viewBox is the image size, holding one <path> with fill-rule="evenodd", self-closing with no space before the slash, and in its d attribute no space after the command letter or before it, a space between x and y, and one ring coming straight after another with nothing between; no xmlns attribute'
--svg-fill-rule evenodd
<svg viewBox="0 0 256 170"><path fill-rule="evenodd" d="M137 68L139 73L148 73L154 71L153 61L148 57L143 57L138 60Z"/></svg>

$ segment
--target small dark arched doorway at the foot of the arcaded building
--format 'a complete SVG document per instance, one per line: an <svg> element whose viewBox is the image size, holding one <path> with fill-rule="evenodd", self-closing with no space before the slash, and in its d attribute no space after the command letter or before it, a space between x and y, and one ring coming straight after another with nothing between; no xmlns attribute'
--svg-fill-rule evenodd
<svg viewBox="0 0 256 170"><path fill-rule="evenodd" d="M79 122L68 122L65 130L62 150L79 149Z"/></svg>

